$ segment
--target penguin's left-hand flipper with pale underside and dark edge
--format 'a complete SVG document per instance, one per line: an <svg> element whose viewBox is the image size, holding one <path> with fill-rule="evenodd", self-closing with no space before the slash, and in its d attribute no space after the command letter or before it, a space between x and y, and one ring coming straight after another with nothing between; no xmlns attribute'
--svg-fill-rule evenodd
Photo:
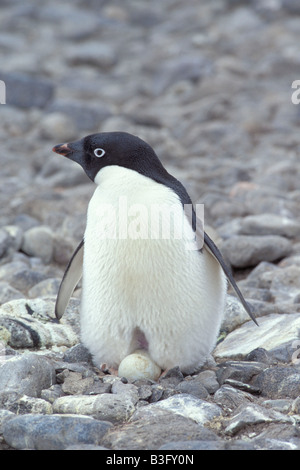
<svg viewBox="0 0 300 470"><path fill-rule="evenodd" d="M63 275L55 303L55 316L59 320L67 308L70 297L82 276L84 240L81 240Z"/></svg>

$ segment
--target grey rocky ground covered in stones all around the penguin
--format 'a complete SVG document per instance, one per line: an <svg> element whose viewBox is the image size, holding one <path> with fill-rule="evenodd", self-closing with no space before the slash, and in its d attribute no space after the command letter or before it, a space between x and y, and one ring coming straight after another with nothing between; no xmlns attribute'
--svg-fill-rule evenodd
<svg viewBox="0 0 300 470"><path fill-rule="evenodd" d="M0 446L300 449L297 0L0 2ZM205 203L229 291L195 375L101 373L75 291L54 302L94 186L51 152L125 130Z"/></svg>

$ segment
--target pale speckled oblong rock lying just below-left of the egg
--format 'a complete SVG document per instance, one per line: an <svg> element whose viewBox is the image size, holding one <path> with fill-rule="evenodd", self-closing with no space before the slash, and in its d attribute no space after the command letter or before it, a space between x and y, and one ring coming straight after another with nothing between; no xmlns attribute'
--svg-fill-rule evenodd
<svg viewBox="0 0 300 470"><path fill-rule="evenodd" d="M110 393L60 397L53 403L54 413L87 415L111 423L127 421L134 410L134 403L131 399L128 397L124 399L124 395L119 397Z"/></svg>

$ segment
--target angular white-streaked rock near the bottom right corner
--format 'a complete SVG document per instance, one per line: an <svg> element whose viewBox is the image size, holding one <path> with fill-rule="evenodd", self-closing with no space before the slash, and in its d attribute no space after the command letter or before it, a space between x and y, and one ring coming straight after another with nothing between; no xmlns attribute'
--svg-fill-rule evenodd
<svg viewBox="0 0 300 470"><path fill-rule="evenodd" d="M274 410L266 410L254 403L244 407L241 405L236 409L234 416L228 420L225 433L234 435L247 426L261 423L290 423L291 418Z"/></svg>

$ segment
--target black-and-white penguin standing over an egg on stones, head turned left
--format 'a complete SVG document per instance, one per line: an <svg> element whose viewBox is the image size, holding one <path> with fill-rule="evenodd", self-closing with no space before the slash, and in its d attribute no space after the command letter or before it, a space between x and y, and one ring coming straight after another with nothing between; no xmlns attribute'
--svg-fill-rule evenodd
<svg viewBox="0 0 300 470"><path fill-rule="evenodd" d="M56 145L53 151L79 163L97 185L84 239L66 269L56 301L60 319L82 276L81 340L95 364L118 368L126 356L144 349L161 369L179 366L191 373L215 346L226 276L256 323L205 232L203 247L197 245L195 211L190 216L184 213L191 199L150 145L124 132L108 132ZM128 208L125 216L121 199ZM174 220L181 220L181 237L175 228L162 236L162 206L172 207ZM128 228L141 207L141 236L130 237L120 221ZM158 216L159 223L146 237L149 214L151 220Z"/></svg>

